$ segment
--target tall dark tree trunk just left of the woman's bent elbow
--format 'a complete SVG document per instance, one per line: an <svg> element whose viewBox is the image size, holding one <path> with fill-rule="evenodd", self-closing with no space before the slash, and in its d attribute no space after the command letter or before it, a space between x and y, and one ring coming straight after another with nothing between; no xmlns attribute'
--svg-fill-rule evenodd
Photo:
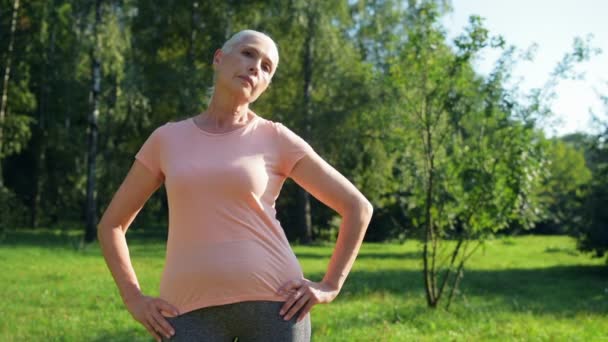
<svg viewBox="0 0 608 342"><path fill-rule="evenodd" d="M101 90L101 65L98 54L98 27L101 23L101 1L95 2L95 24L93 26L93 47L91 48L91 115L89 117L89 153L87 158L87 208L86 208L86 227L84 241L89 243L95 241L97 235L97 203L95 194L95 159L97 156L97 118L99 117L99 93Z"/></svg>

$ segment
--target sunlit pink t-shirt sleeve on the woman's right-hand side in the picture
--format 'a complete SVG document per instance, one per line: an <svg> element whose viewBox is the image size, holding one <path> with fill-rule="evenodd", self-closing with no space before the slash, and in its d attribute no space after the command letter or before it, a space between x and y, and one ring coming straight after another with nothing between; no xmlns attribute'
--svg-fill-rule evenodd
<svg viewBox="0 0 608 342"><path fill-rule="evenodd" d="M314 153L314 150L304 139L283 124L277 123L276 129L279 140L279 172L288 177L296 163L305 155Z"/></svg>

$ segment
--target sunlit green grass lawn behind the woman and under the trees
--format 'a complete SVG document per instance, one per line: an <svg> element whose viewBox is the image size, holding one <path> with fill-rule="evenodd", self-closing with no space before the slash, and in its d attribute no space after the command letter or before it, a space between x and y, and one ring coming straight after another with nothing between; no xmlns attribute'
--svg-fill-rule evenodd
<svg viewBox="0 0 608 342"><path fill-rule="evenodd" d="M9 232L0 244L1 341L151 341L124 309L97 245L59 231ZM129 239L156 294L160 239ZM295 246L319 280L331 246ZM608 267L567 237L489 241L449 312L426 308L419 245L364 244L338 298L312 314L314 341L608 341Z"/></svg>

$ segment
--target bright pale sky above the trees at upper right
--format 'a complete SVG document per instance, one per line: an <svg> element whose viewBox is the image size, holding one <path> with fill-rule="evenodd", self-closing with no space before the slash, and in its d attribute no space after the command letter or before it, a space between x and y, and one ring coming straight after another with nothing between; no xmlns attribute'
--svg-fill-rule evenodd
<svg viewBox="0 0 608 342"><path fill-rule="evenodd" d="M522 90L542 87L564 54L572 51L574 38L593 34L592 46L602 53L577 65L584 80L563 80L552 103L553 124L543 127L549 136L594 132L589 113L608 119L598 94L608 95L608 1L606 0L452 0L453 12L444 18L448 36L464 32L468 18L477 14L491 35L502 35L507 44L524 50L538 45L532 62L514 68ZM498 54L482 53L476 68L487 74Z"/></svg>

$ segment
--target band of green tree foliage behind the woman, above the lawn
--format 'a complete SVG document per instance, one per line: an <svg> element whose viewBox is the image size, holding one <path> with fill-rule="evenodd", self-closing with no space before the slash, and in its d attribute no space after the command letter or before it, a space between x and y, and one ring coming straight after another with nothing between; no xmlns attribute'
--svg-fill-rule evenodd
<svg viewBox="0 0 608 342"><path fill-rule="evenodd" d="M0 3L11 8L9 0ZM97 32L99 214L154 128L205 109L215 50L236 31L253 28L269 33L281 56L253 109L304 136L371 200L369 240L423 237L418 228L427 223L426 211L445 239L485 238L537 222L539 231L591 227L584 223L589 215L579 212L591 208L581 205L581 189L601 203L605 184L594 166L601 163L591 161L600 154L584 148L597 183L585 185L580 152L547 141L537 127L549 117L556 82L580 76L576 63L597 54L590 37L575 41L546 87L522 95L506 86L516 49L492 37L482 18L471 17L462 35L447 41L440 19L450 5L104 1ZM5 185L26 204L32 226L84 217L93 9L91 1L32 0L20 11L0 158ZM9 19L0 16L2 37ZM472 67L481 49L503 53L487 77ZM5 60L3 50L3 66ZM576 144L581 149L587 142ZM277 204L290 237L295 194L286 184ZM161 190L139 223L163 229L166 206ZM335 213L318 202L312 213L316 238L335 236Z"/></svg>

